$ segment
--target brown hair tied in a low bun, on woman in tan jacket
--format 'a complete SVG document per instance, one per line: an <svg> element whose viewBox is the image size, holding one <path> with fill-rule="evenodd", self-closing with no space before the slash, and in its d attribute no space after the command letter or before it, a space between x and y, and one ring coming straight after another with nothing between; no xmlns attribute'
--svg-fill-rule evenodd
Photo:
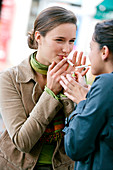
<svg viewBox="0 0 113 170"><path fill-rule="evenodd" d="M44 9L34 22L34 29L28 33L28 46L32 49L38 48L38 43L35 40L35 32L45 37L47 32L64 23L73 23L76 25L77 18L75 14L60 6L52 6Z"/></svg>

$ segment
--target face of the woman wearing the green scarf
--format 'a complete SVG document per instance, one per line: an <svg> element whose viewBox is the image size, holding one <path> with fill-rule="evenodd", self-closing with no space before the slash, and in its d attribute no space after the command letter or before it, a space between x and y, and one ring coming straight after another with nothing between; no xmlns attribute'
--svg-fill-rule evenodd
<svg viewBox="0 0 113 170"><path fill-rule="evenodd" d="M61 24L51 31L45 37L38 38L38 61L49 65L52 61L58 63L67 57L73 50L76 39L76 25L72 23Z"/></svg>

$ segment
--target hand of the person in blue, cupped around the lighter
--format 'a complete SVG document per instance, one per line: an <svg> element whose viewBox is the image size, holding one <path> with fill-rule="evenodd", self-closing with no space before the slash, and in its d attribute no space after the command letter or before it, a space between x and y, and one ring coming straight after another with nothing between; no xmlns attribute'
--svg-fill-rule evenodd
<svg viewBox="0 0 113 170"><path fill-rule="evenodd" d="M75 78L79 82L74 80ZM64 88L64 94L78 104L80 101L86 99L86 94L88 93L89 88L80 73L77 73L75 78L73 78L71 74L61 76L60 84Z"/></svg>

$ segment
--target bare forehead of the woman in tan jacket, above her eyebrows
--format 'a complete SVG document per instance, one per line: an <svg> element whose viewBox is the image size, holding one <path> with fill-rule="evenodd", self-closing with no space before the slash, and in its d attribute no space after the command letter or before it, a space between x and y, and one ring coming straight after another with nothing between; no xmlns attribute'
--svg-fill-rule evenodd
<svg viewBox="0 0 113 170"><path fill-rule="evenodd" d="M66 35L69 35L74 38L76 36L76 25L72 23L60 24L49 31L46 35L54 37L65 37Z"/></svg>

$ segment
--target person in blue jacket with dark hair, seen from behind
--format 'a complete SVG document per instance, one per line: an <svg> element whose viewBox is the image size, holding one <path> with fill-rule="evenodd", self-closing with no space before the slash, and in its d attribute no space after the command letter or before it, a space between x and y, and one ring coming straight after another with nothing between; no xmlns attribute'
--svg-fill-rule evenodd
<svg viewBox="0 0 113 170"><path fill-rule="evenodd" d="M88 93L79 73L78 82L69 74L60 81L64 94L77 103L64 129L65 151L75 170L112 170L113 20L96 24L89 59L96 78Z"/></svg>

